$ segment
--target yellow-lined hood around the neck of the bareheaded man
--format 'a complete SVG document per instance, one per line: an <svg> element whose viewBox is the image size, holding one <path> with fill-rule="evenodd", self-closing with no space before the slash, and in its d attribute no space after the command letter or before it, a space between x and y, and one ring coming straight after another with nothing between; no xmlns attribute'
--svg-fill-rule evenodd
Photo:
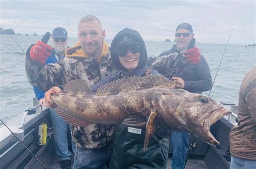
<svg viewBox="0 0 256 169"><path fill-rule="evenodd" d="M107 54L107 52L109 52L109 45L107 45L107 43L103 43L103 47L102 47L102 52L100 52L99 58L98 58L98 62L100 61L100 59L102 59L104 57L104 55ZM67 58L87 58L86 53L84 52L84 50L81 47L80 41L78 41L78 43L76 43L74 46L69 47L66 49L65 51L65 56Z"/></svg>

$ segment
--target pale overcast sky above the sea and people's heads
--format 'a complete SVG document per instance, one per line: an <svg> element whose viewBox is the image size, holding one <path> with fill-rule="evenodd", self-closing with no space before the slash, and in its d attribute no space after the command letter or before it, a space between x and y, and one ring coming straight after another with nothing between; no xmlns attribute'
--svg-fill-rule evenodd
<svg viewBox="0 0 256 169"><path fill-rule="evenodd" d="M57 26L77 37L81 17L96 15L106 30L106 39L124 27L137 30L144 40L174 40L178 24L190 23L198 42L255 43L255 1L3 1L1 25L21 34L44 34Z"/></svg>

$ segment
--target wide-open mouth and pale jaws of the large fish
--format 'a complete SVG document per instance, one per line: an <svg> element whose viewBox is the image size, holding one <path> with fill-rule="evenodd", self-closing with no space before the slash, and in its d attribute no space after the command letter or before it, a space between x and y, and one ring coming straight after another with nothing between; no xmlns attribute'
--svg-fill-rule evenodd
<svg viewBox="0 0 256 169"><path fill-rule="evenodd" d="M201 138L211 145L218 145L219 142L210 132L210 126L217 122L221 117L231 114L231 111L227 110L224 107L218 108L210 112L210 114L204 118L205 121L203 122L203 132L200 132Z"/></svg>

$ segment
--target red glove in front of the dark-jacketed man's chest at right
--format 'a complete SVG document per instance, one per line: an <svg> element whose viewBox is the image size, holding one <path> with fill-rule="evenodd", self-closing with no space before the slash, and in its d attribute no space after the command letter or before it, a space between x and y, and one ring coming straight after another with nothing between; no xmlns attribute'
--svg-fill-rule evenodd
<svg viewBox="0 0 256 169"><path fill-rule="evenodd" d="M191 65L196 65L201 60L201 54L197 47L186 50L183 56L185 57L186 61Z"/></svg>

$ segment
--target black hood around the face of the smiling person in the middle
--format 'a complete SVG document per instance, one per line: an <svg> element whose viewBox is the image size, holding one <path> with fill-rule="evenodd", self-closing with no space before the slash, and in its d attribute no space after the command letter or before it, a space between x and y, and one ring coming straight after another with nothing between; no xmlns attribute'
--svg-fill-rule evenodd
<svg viewBox="0 0 256 169"><path fill-rule="evenodd" d="M118 32L112 40L110 53L111 53L111 59L112 59L113 65L116 66L118 69L127 72L127 69L121 65L118 55L117 55L117 52L116 52L116 48L120 46L120 38L122 38L124 41L127 39L128 40L132 39L132 41L133 41L134 39L136 39L135 40L136 42L134 42L134 43L141 46L140 55L139 55L139 64L136 69L140 69L140 68L146 66L147 50L146 50L145 42L144 42L142 36L140 36L139 32L129 29L129 28L125 28L122 31ZM129 44L133 44L133 43L131 42Z"/></svg>

